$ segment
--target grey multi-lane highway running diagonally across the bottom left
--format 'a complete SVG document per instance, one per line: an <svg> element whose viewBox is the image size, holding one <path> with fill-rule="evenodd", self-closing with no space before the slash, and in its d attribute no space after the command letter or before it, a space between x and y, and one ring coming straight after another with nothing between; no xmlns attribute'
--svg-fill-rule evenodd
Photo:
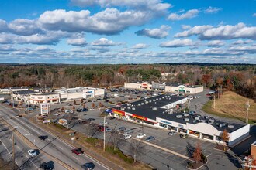
<svg viewBox="0 0 256 170"><path fill-rule="evenodd" d="M17 131L23 134L29 141L33 142L36 147L40 148L40 151L44 151L48 155L54 156L55 158L61 160L61 162L69 165L70 168L81 169L81 165L85 164L86 162L93 162L95 164L95 169L110 169L106 165L103 165L101 162L89 157L88 155L84 154L77 156L72 154L71 149L73 147L71 145L62 141L60 138L49 134L42 128L36 127L34 124L31 124L28 120L26 120L25 117L16 117L17 113L15 113L14 110L10 110L9 107L0 105L0 110L0 113L2 114L4 120L7 121L9 124L12 124L13 127L17 127ZM44 141L41 141L38 138L38 136L40 135L47 135L48 138ZM23 151L23 156L24 155L27 155L27 150ZM36 165L36 162L34 163L34 166L39 165ZM54 169L63 168L56 167Z"/></svg>

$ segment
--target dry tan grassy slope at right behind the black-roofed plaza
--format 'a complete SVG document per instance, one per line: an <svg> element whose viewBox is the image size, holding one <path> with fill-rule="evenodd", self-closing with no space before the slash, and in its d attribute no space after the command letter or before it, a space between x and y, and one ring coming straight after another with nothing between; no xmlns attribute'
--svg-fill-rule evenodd
<svg viewBox="0 0 256 170"><path fill-rule="evenodd" d="M250 120L256 121L256 104L254 100L242 97L232 91L227 91L223 93L220 99L216 99L215 109L213 108L213 100L210 100L202 107L202 110L220 117L234 117L245 121L248 100L250 104L248 117Z"/></svg>

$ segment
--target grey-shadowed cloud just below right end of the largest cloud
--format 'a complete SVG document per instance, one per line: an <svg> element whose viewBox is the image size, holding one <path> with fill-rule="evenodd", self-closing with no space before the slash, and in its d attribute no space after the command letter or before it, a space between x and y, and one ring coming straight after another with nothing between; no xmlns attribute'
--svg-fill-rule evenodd
<svg viewBox="0 0 256 170"><path fill-rule="evenodd" d="M171 29L170 26L162 25L159 29L141 29L135 32L137 36L148 36L154 39L162 39L169 35L168 31Z"/></svg>

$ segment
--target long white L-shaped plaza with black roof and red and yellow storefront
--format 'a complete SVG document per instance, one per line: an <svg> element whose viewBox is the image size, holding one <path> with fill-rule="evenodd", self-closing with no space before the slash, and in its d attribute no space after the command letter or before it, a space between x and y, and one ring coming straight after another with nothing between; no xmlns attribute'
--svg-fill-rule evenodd
<svg viewBox="0 0 256 170"><path fill-rule="evenodd" d="M111 116L126 121L189 134L212 142L222 143L220 136L226 129L230 135L228 145L234 145L248 136L250 124L228 123L193 113L174 113L173 108L186 101L186 97L160 95L113 107L106 111Z"/></svg>

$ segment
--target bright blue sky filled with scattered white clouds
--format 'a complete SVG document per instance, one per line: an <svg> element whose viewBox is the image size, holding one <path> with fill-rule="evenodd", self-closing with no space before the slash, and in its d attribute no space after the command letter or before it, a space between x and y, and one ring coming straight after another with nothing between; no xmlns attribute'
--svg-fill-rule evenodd
<svg viewBox="0 0 256 170"><path fill-rule="evenodd" d="M256 63L256 0L0 0L0 63Z"/></svg>

